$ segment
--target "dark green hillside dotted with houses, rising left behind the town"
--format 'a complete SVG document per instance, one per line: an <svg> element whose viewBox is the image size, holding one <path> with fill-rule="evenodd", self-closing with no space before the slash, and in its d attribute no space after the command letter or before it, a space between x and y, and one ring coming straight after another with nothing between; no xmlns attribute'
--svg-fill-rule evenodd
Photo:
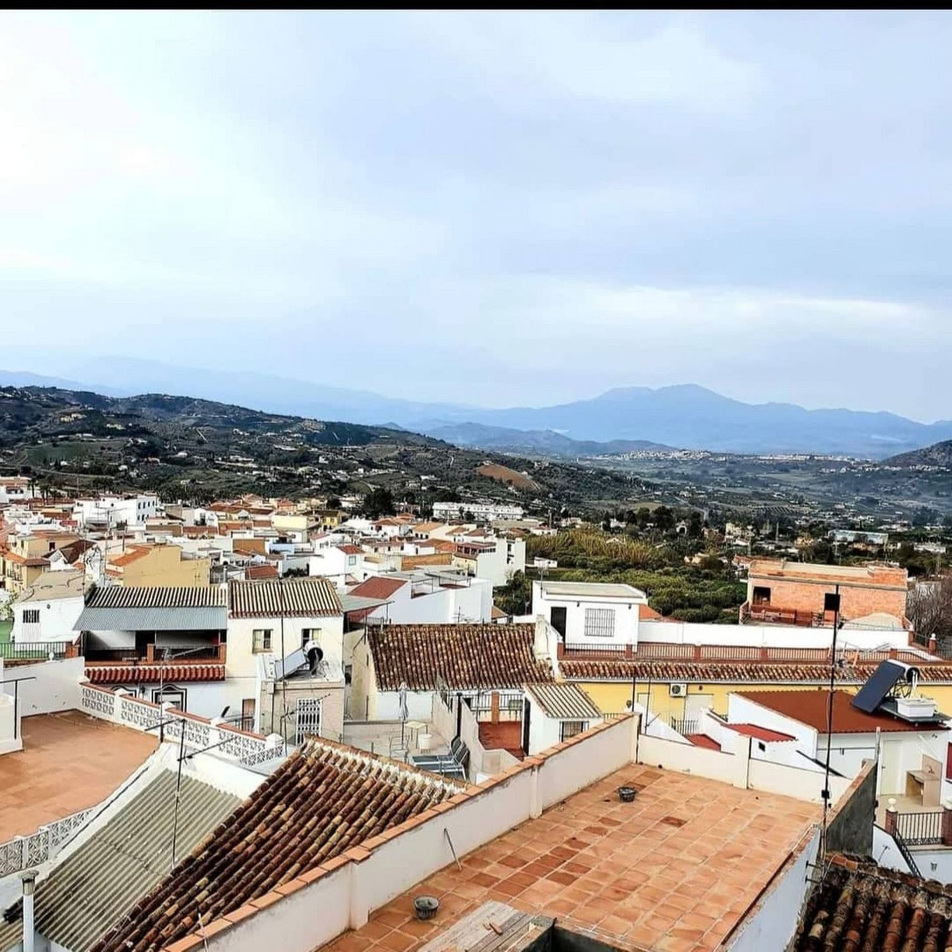
<svg viewBox="0 0 952 952"><path fill-rule="evenodd" d="M193 502L266 488L294 496L382 486L397 499L487 496L552 506L621 502L642 487L627 474L487 458L404 429L58 387L0 387L0 460L45 488L150 489Z"/></svg>

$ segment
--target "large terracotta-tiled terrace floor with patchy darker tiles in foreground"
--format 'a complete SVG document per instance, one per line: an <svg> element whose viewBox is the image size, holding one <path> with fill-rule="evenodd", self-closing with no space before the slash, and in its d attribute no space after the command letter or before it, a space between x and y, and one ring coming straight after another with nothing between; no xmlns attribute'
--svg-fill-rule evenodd
<svg viewBox="0 0 952 952"><path fill-rule="evenodd" d="M634 803L615 790L640 788ZM490 900L618 948L706 952L744 916L820 808L630 764L446 866L325 952L413 952ZM440 899L435 919L413 898Z"/></svg>

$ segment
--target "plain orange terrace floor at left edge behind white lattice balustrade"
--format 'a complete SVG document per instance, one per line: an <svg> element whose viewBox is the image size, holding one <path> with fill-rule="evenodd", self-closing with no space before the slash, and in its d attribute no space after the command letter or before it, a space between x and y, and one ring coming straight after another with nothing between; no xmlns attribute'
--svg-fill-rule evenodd
<svg viewBox="0 0 952 952"><path fill-rule="evenodd" d="M0 756L0 843L105 800L158 745L79 711L22 722L23 750Z"/></svg>

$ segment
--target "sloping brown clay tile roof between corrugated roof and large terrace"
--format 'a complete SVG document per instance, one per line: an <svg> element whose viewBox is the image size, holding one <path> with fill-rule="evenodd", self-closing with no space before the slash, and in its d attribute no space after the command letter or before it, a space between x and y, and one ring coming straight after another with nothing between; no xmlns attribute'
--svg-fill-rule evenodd
<svg viewBox="0 0 952 952"><path fill-rule="evenodd" d="M407 764L311 741L95 950L157 952L195 929L199 912L208 924L461 789Z"/></svg>

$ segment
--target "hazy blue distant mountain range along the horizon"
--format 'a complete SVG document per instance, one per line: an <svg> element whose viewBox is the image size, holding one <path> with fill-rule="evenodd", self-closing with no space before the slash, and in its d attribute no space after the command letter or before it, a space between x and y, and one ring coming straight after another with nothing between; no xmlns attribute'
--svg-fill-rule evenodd
<svg viewBox="0 0 952 952"><path fill-rule="evenodd" d="M80 379L0 370L0 384L92 389L113 396L188 393L271 413L371 426L386 422L464 446L533 449L554 455L625 452L662 445L737 453L846 453L882 459L952 440L949 420L922 424L895 413L745 404L695 385L622 387L590 400L551 407L486 409L402 400L272 374L193 370L118 357L103 358L74 373ZM602 444L617 448L595 446Z"/></svg>

